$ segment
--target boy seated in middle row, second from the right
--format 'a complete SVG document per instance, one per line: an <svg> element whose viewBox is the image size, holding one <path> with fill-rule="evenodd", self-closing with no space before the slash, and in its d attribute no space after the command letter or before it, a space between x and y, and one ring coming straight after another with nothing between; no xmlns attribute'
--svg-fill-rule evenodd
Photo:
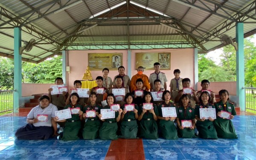
<svg viewBox="0 0 256 160"><path fill-rule="evenodd" d="M190 79L188 79L188 78L182 79L182 87L183 87L183 89L189 88L190 87ZM175 103L180 102L180 97L182 94L183 94L183 90L179 90L178 95L175 98ZM192 90L192 94L188 94L188 96L189 96L190 106L192 108L195 108L195 103L199 103L199 99L198 99L198 96L196 96L195 90Z"/></svg>

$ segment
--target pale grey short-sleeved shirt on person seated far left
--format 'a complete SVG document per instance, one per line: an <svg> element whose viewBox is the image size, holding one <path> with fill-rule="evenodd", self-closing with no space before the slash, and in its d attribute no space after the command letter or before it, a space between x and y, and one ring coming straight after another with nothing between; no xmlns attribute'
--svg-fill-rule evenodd
<svg viewBox="0 0 256 160"><path fill-rule="evenodd" d="M47 122L38 121L37 123L33 123L35 127L38 126L52 126L52 117L55 117L55 111L58 111L58 108L55 105L49 104L48 107L42 109L41 105L38 105L29 112L28 119L37 118L38 114L47 114L48 119Z"/></svg>

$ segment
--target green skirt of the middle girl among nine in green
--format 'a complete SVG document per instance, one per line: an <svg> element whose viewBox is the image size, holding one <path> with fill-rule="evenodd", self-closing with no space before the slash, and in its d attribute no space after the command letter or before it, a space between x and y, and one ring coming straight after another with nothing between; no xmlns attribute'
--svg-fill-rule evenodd
<svg viewBox="0 0 256 160"><path fill-rule="evenodd" d="M140 137L151 140L155 140L158 138L157 122L154 119L141 119Z"/></svg>

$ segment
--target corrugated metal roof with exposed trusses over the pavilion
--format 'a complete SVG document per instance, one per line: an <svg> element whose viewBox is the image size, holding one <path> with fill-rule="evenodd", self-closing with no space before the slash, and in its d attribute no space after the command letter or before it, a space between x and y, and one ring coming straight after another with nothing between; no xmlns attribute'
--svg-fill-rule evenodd
<svg viewBox="0 0 256 160"><path fill-rule="evenodd" d="M35 38L22 60L39 63L65 49L195 48L223 46L220 35L256 33L255 0L1 0L0 55L13 58L14 27ZM118 7L115 7L118 5ZM22 43L23 45L23 43Z"/></svg>

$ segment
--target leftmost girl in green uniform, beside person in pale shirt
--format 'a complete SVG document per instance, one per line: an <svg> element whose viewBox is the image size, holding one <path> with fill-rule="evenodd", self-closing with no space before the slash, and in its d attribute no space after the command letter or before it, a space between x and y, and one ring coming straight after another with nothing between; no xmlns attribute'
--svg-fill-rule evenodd
<svg viewBox="0 0 256 160"><path fill-rule="evenodd" d="M66 122L65 128L63 130L63 136L61 140L78 140L78 133L81 128L81 120L83 111L82 105L78 104L79 95L77 93L72 93L70 97L70 104L66 105L64 109L70 108L71 118L58 120L58 116L54 118L56 122ZM79 111L79 112L78 112Z"/></svg>

